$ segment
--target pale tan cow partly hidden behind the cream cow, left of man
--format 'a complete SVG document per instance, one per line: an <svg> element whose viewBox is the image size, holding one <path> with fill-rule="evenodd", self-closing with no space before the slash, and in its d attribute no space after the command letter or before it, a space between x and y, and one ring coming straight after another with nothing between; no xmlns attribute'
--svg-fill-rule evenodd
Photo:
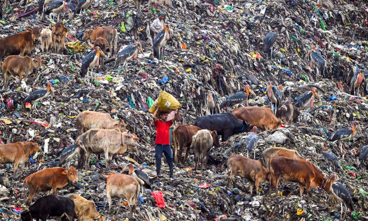
<svg viewBox="0 0 368 221"><path fill-rule="evenodd" d="M125 131L124 120L114 120L109 113L100 113L96 111L83 111L78 114L77 128L82 133L89 129L115 129Z"/></svg>

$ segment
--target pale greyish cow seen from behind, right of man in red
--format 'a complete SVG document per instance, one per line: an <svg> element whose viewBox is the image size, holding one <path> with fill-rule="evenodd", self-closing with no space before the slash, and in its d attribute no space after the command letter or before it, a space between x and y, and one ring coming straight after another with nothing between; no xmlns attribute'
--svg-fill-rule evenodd
<svg viewBox="0 0 368 221"><path fill-rule="evenodd" d="M216 130L215 131L198 130L198 132L193 135L190 149L194 150L194 161L195 161L194 170L197 170L199 160L201 160L201 164L199 165L201 171L203 171L203 161L205 161L204 167L206 169L209 150L213 144L212 136L217 137Z"/></svg>

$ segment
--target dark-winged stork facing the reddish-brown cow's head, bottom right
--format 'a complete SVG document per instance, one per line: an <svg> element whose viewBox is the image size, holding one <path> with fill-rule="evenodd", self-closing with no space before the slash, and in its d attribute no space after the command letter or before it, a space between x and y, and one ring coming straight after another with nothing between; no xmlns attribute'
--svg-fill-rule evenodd
<svg viewBox="0 0 368 221"><path fill-rule="evenodd" d="M334 174L332 174L331 176L333 176L333 178L335 178L335 175ZM349 191L340 182L332 183L330 191L332 192L333 196L337 200L339 200L340 203L341 203L341 215L340 215L340 219L344 220L345 219L345 215L346 215L346 211L347 211L347 206L346 205L349 206L350 212L353 212L354 211L353 198L351 197ZM342 217L342 215L343 215L343 203L345 205L344 217Z"/></svg>

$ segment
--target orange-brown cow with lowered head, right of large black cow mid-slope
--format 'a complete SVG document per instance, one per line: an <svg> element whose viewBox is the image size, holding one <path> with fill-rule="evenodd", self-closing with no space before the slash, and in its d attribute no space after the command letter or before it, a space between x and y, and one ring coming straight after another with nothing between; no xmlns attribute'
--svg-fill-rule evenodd
<svg viewBox="0 0 368 221"><path fill-rule="evenodd" d="M282 124L282 120L275 117L270 108L263 107L240 107L237 108L233 115L244 122L250 122L250 127L258 127L263 130L275 129Z"/></svg>

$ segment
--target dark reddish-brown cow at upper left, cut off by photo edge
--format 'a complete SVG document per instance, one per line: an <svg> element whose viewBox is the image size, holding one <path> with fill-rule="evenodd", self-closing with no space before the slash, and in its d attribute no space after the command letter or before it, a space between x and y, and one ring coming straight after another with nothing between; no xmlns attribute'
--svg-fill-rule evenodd
<svg viewBox="0 0 368 221"><path fill-rule="evenodd" d="M39 28L26 28L28 31L16 33L0 39L0 62L4 56L29 54L36 46L40 35Z"/></svg>

